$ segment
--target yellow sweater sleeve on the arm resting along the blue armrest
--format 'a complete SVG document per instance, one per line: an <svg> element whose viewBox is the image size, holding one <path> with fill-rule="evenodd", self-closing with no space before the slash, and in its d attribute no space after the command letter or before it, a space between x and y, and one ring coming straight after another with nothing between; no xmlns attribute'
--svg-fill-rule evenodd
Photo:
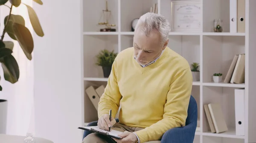
<svg viewBox="0 0 256 143"><path fill-rule="evenodd" d="M160 140L169 129L185 126L189 99L192 90L192 73L190 68L175 76L169 85L169 92L164 105L163 119L145 129L135 132L140 143L151 140Z"/></svg>

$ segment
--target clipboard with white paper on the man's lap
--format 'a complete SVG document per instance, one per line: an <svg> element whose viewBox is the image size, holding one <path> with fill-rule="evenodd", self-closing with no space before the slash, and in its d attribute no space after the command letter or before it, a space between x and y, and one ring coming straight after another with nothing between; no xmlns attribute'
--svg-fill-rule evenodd
<svg viewBox="0 0 256 143"><path fill-rule="evenodd" d="M84 126L84 127L78 127L78 129L83 129L83 130L87 130L87 131L90 131L90 132L99 133L99 134L106 135L106 136L109 136L109 137L113 137L113 138L116 138L116 139L122 139L122 137L118 136L118 134L121 134L122 132L119 132L119 131L116 131L116 130L113 130L113 129L111 130L111 132L99 129L98 126Z"/></svg>

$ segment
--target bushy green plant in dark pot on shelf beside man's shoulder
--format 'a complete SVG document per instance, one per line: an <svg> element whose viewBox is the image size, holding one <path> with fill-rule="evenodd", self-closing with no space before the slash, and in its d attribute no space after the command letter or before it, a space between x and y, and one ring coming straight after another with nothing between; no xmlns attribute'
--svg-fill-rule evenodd
<svg viewBox="0 0 256 143"><path fill-rule="evenodd" d="M114 60L116 59L117 53L114 52L114 50L101 50L100 53L96 56L97 62L96 64L102 67L103 75L105 78L108 78L108 76L111 73L111 68Z"/></svg>

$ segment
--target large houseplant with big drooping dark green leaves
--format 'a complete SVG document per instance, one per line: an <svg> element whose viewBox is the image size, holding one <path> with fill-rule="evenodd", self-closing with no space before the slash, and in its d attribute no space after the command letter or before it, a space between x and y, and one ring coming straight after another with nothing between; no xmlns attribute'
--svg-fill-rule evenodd
<svg viewBox="0 0 256 143"><path fill-rule="evenodd" d="M10 6L7 5L8 1ZM33 1L43 5L41 0ZM27 59L32 59L31 53L34 49L32 34L30 33L29 29L26 28L25 20L21 15L12 14L12 8L18 7L21 4L25 5L28 10L29 20L35 33L38 36L44 36L44 32L38 20L37 14L31 6L22 3L21 0L0 0L0 6L7 6L10 9L9 15L7 15L4 19L4 29L0 39L0 63L3 68L4 79L12 84L19 80L20 70L16 59L14 56L12 56L14 43L12 41L4 41L3 39L5 34L7 33L13 40L16 40L19 43ZM0 91L2 91L1 86Z"/></svg>

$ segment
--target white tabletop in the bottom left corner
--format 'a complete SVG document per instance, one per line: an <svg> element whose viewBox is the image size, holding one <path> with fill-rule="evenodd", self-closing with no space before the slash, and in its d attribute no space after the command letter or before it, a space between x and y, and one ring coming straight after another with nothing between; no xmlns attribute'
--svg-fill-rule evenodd
<svg viewBox="0 0 256 143"><path fill-rule="evenodd" d="M25 136L0 134L0 143L23 143L25 138ZM36 143L53 143L51 140L47 140L41 137L34 138Z"/></svg>

